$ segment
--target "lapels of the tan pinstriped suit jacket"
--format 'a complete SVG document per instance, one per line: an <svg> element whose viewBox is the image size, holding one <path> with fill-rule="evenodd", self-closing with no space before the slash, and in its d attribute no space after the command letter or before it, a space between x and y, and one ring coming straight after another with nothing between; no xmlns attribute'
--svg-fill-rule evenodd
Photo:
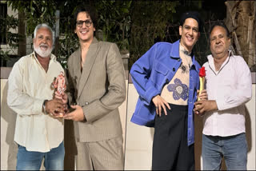
<svg viewBox="0 0 256 171"><path fill-rule="evenodd" d="M92 69L92 66L94 65L95 58L97 57L98 52L98 40L94 38L93 42L91 42L89 46L89 50L87 52L86 61L84 63L84 66L82 68L81 76L78 78L78 98L80 97L82 93L82 89L86 85L87 79L90 74L90 70ZM80 49L80 55L78 60L78 70L80 70L80 62L81 62L81 49Z"/></svg>

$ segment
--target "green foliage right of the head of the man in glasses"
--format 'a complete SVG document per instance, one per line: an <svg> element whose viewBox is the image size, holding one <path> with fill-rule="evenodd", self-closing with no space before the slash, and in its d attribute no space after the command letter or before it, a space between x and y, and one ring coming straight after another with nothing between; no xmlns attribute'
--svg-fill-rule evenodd
<svg viewBox="0 0 256 171"><path fill-rule="evenodd" d="M102 29L103 41L117 43L120 50L130 49L130 9L132 1L96 1L98 28Z"/></svg>

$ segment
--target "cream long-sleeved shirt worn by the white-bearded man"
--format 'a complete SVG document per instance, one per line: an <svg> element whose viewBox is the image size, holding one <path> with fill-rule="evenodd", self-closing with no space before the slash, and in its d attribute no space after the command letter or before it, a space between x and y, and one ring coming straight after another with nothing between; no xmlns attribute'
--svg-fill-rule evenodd
<svg viewBox="0 0 256 171"><path fill-rule="evenodd" d="M63 141L63 119L42 113L43 101L53 98L50 84L61 71L53 54L46 73L32 53L19 59L10 72L7 104L17 113L14 141L28 151L49 152Z"/></svg>

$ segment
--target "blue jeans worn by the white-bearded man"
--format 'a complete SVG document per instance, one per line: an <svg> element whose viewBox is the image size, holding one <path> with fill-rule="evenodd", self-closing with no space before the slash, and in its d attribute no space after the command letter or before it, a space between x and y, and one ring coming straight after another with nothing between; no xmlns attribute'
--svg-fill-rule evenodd
<svg viewBox="0 0 256 171"><path fill-rule="evenodd" d="M63 170L64 155L63 141L57 148L50 149L50 152L46 153L27 151L26 147L18 145L16 170L39 170L43 157L46 170Z"/></svg>

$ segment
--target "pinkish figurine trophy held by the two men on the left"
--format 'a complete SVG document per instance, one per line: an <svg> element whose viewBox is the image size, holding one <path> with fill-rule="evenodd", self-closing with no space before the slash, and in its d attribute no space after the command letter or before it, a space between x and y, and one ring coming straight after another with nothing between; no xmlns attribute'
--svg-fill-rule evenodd
<svg viewBox="0 0 256 171"><path fill-rule="evenodd" d="M58 75L57 78L54 78L54 82L52 82L50 86L51 86L52 89L54 89L54 92L58 91L58 93L63 95L63 93L66 90L66 82L65 82L64 73L62 71ZM59 114L60 117L63 117L63 115L64 115L63 113L58 113L58 114Z"/></svg>

